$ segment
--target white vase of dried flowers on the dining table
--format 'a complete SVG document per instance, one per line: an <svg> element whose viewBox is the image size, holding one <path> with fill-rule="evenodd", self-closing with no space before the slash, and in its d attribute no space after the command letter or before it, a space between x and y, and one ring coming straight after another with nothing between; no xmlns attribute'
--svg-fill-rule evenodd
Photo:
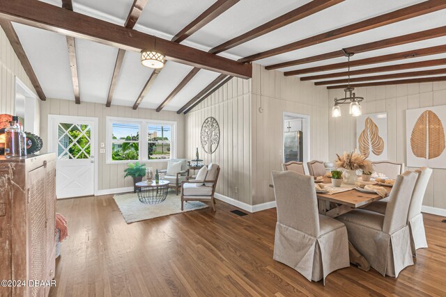
<svg viewBox="0 0 446 297"><path fill-rule="evenodd" d="M334 161L336 168L344 168L342 178L344 184L355 184L357 182L356 170L362 170L367 172L373 171L371 162L367 160L367 156L360 154L354 150L353 152L344 152L341 156L336 154L337 159Z"/></svg>

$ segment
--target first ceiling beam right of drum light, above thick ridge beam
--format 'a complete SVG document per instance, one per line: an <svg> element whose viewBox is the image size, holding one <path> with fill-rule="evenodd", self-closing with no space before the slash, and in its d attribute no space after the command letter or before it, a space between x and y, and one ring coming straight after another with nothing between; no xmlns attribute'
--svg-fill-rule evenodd
<svg viewBox="0 0 446 297"><path fill-rule="evenodd" d="M173 42L182 42L186 38L188 38L193 33L197 32L199 29L201 29L203 26L211 22L215 17L218 17L222 13L224 13L226 10L231 8L234 4L236 4L240 0L217 0L215 3L213 3L212 6L210 6L208 9L206 9L201 15L197 17L197 19L194 19L190 24L185 26L183 30L178 32L174 38L172 38Z"/></svg>

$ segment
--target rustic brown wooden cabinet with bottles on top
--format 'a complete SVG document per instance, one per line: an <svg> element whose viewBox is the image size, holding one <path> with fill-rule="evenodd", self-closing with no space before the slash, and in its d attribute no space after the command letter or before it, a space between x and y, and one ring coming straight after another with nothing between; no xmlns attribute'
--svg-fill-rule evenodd
<svg viewBox="0 0 446 297"><path fill-rule="evenodd" d="M0 280L26 282L0 287L0 296L48 295L29 283L54 278L55 227L55 154L0 156Z"/></svg>

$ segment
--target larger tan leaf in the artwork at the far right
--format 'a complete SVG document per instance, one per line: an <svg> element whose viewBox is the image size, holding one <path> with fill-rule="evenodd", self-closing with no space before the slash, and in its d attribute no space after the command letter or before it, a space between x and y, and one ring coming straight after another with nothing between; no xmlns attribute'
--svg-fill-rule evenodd
<svg viewBox="0 0 446 297"><path fill-rule="evenodd" d="M410 147L419 158L433 159L445 150L445 130L438 115L424 111L415 122L410 136Z"/></svg>

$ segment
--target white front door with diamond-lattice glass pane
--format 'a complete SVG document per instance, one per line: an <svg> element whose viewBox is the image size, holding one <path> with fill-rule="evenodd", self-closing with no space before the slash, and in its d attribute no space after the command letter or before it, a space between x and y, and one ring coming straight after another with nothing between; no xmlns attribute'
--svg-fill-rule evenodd
<svg viewBox="0 0 446 297"><path fill-rule="evenodd" d="M50 122L50 121L48 121ZM57 117L52 120L52 152L56 152L56 196L94 194L95 121L91 118Z"/></svg>

